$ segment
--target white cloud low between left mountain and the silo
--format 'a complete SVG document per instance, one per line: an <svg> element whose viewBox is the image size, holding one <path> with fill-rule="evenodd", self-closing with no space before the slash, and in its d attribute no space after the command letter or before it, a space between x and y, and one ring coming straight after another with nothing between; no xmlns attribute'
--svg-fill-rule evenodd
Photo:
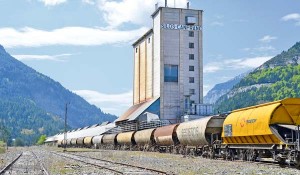
<svg viewBox="0 0 300 175"><path fill-rule="evenodd" d="M73 92L103 111L116 115L121 115L132 105L132 91L119 94L105 94L92 90L74 90Z"/></svg>

